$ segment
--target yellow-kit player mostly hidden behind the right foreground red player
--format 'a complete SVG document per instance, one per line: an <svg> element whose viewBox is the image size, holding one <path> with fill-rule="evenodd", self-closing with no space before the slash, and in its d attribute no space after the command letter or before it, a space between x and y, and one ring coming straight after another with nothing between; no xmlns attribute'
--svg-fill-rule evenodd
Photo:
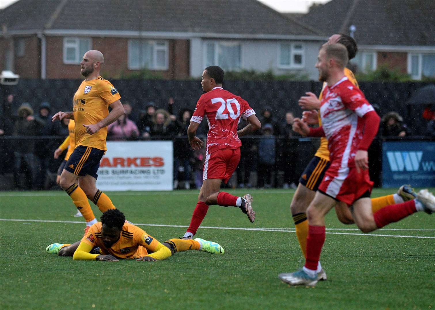
<svg viewBox="0 0 435 310"><path fill-rule="evenodd" d="M350 36L344 34L334 34L329 37L328 42L324 44L341 43L348 50L348 57L352 59L355 57L358 47L356 42ZM358 82L355 78L353 72L345 68L345 75L349 81L359 88ZM325 87L324 83L323 87ZM321 119L318 113L320 108L321 94L319 98L312 92L307 92L306 96L299 99L299 106L302 109L308 110L303 112L303 120L308 124L319 124L321 126ZM305 168L304 172L299 179L299 185L294 193L293 199L291 201L290 210L293 217L294 226L296 228L296 236L301 246L301 251L304 257L306 257L306 245L308 237L308 219L307 219L307 209L314 195L321 183L325 171L329 167L329 151L328 151L328 140L325 137L321 138L320 147L318 148L315 156L311 159L308 166ZM400 187L397 193L394 195L382 196L371 199L372 211L376 212L385 206L401 203L416 197L415 192L409 185L404 185ZM351 212L345 203L339 202L335 206L335 212L337 213L338 219L344 224L353 224L354 220L352 218ZM326 280L326 273L321 267L320 262L318 263L318 280Z"/></svg>

